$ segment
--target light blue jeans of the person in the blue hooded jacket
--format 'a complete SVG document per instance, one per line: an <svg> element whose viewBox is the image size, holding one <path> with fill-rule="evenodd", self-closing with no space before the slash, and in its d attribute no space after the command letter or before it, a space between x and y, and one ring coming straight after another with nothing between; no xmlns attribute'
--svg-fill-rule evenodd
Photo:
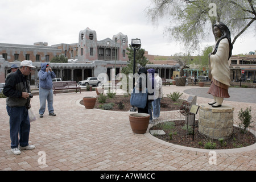
<svg viewBox="0 0 256 182"><path fill-rule="evenodd" d="M48 90L48 89L39 88L39 100L40 100L39 114L44 114L44 111L46 111L46 100L48 104L49 113L54 112L52 89Z"/></svg>

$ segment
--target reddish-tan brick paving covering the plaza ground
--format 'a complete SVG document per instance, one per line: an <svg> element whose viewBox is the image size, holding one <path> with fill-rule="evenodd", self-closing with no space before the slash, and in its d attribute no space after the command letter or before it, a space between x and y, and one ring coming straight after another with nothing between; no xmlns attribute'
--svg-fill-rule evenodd
<svg viewBox="0 0 256 182"><path fill-rule="evenodd" d="M199 87L174 85L164 86L164 94L191 89L199 89L200 94ZM247 97L255 98L255 91L250 89L251 96ZM96 96L96 92L56 94L56 117L49 116L46 110L43 118L38 114L39 96L34 96L31 105L36 121L31 123L30 144L36 148L20 155L10 151L6 99L0 98L0 170L256 170L255 144L215 150L217 164L210 164L210 150L163 142L148 132L134 134L129 112L85 109L79 104L84 96ZM210 98L197 97L198 104L209 101ZM248 106L256 110L255 102L237 101L224 102L237 110Z"/></svg>

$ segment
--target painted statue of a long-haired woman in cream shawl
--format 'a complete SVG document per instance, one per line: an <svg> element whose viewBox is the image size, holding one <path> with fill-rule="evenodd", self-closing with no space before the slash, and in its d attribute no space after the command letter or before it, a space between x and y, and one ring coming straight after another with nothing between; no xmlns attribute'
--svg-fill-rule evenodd
<svg viewBox="0 0 256 182"><path fill-rule="evenodd" d="M209 54L209 78L212 83L208 90L212 94L213 101L208 104L212 107L221 107L224 98L229 98L230 86L229 59L232 56L233 45L231 43L229 28L224 23L214 24L214 34L218 40L213 52Z"/></svg>

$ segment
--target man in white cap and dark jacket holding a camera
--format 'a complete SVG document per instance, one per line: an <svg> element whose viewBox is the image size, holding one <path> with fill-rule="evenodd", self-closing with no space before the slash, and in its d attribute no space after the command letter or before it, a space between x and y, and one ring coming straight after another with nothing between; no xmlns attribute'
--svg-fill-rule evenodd
<svg viewBox="0 0 256 182"><path fill-rule="evenodd" d="M32 61L22 61L19 69L6 79L3 94L7 97L6 109L10 116L11 151L15 155L21 154L20 150L31 150L35 146L28 144L30 135L30 81L28 75L32 68Z"/></svg>

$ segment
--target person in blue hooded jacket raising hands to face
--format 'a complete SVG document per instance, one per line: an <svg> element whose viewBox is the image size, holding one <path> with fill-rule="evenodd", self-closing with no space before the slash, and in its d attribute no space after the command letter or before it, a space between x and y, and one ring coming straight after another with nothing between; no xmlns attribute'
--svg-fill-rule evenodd
<svg viewBox="0 0 256 182"><path fill-rule="evenodd" d="M39 77L39 100L40 100L40 109L39 115L40 118L43 118L44 111L46 111L46 100L48 104L49 115L55 116L53 109L53 92L52 92L52 78L55 78L56 75L52 71L52 68L48 63L41 63L41 69L38 72Z"/></svg>

